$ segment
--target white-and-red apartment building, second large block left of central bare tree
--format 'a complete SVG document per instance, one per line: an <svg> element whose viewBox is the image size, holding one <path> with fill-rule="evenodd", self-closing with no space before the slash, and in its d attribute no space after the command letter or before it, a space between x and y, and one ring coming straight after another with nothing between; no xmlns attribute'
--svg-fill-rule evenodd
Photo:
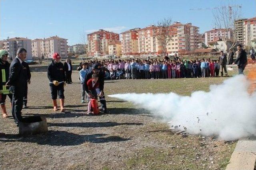
<svg viewBox="0 0 256 170"><path fill-rule="evenodd" d="M140 28L130 29L120 33L122 55L138 55L138 31Z"/></svg>

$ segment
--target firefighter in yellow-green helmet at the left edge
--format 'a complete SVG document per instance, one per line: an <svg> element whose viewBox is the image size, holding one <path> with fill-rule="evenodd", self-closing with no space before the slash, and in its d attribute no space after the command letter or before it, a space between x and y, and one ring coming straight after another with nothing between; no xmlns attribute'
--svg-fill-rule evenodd
<svg viewBox="0 0 256 170"><path fill-rule="evenodd" d="M6 96L10 98L10 105L12 106L12 94L9 91L9 86L6 86L6 82L9 79L9 68L10 63L7 61L8 58L8 51L6 50L0 50L0 106L2 109L2 116L4 118L8 117L5 107L5 100Z"/></svg>

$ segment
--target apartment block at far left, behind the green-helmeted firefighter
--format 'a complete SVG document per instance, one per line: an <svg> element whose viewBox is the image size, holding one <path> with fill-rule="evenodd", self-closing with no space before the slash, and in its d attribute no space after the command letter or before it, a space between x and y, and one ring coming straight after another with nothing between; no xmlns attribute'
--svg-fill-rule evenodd
<svg viewBox="0 0 256 170"><path fill-rule="evenodd" d="M14 59L16 57L17 50L20 47L24 47L27 50L26 60L32 59L31 39L14 37L14 38L3 40L0 43L1 43L2 49L5 49L9 52L9 56L11 59Z"/></svg>

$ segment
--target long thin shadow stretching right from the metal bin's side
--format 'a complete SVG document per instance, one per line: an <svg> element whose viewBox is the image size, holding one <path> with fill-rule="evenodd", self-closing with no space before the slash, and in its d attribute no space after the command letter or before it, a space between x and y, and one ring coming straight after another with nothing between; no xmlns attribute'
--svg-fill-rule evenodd
<svg viewBox="0 0 256 170"><path fill-rule="evenodd" d="M76 122L76 123L47 123L48 126L60 127L114 127L119 125L143 125L143 123L117 123L117 122Z"/></svg>

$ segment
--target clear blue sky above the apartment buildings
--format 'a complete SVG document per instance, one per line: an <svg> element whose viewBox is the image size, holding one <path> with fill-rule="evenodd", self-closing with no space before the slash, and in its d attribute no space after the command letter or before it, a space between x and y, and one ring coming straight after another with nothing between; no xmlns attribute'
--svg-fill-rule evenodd
<svg viewBox="0 0 256 170"><path fill-rule="evenodd" d="M81 43L81 32L107 29L120 33L162 18L192 22L200 33L213 27L211 8L242 5L243 18L256 16L256 0L0 0L0 39L58 35L68 45Z"/></svg>

